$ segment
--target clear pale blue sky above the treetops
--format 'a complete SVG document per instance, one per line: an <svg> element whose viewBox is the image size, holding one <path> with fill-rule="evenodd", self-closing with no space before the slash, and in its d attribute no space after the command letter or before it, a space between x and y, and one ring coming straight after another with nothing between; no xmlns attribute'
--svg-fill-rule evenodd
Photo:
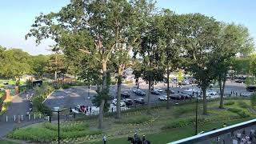
<svg viewBox="0 0 256 144"><path fill-rule="evenodd" d="M8 0L0 3L0 46L21 48L30 54L50 54L49 40L36 46L34 39L25 40L34 17L39 13L58 11L70 0ZM256 1L254 0L158 0L159 8L177 14L201 13L218 21L247 26L256 39Z"/></svg>

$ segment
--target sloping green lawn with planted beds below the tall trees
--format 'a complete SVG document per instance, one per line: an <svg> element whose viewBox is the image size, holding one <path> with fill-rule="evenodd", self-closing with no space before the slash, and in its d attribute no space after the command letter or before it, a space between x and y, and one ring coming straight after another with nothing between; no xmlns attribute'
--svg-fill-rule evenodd
<svg viewBox="0 0 256 144"><path fill-rule="evenodd" d="M226 109L218 109L218 103L218 100L208 102L208 115L202 115L202 103L199 103L198 133L220 128L224 122L227 125L232 125L256 118L254 110L250 107L249 99L226 100ZM121 119L106 117L103 130L97 129L97 119L79 118L80 120L77 122L62 123L62 143L87 142L97 144L102 143L102 136L106 135L109 143L122 144L128 143L127 137L132 137L135 132L138 133L139 137L146 134L146 138L152 143L172 142L194 135L194 110L195 104L193 102L171 106L170 110L166 110L165 107L154 107L151 109L150 115L146 114L146 110L130 110L122 113ZM89 127L86 128L83 125ZM56 142L56 126L56 124L49 123L28 126L15 130L9 134L9 138ZM94 133L94 130L97 133Z"/></svg>

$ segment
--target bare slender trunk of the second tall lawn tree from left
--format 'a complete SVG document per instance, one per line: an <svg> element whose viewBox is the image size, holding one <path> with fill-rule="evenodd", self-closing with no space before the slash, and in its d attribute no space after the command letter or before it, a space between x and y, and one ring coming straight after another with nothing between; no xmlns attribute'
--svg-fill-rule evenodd
<svg viewBox="0 0 256 144"><path fill-rule="evenodd" d="M122 86L122 67L118 66L118 91L117 91L117 118L120 118L121 114L121 86Z"/></svg>

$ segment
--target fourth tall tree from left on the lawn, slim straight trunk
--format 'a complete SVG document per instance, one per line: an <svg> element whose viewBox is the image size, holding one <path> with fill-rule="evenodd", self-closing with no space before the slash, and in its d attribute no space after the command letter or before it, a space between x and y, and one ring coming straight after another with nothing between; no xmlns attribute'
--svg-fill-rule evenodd
<svg viewBox="0 0 256 144"><path fill-rule="evenodd" d="M181 21L178 14L166 9L162 11L161 21L158 22L158 30L160 31L158 46L163 51L163 65L167 77L167 109L170 107L170 72L176 70L181 62Z"/></svg>

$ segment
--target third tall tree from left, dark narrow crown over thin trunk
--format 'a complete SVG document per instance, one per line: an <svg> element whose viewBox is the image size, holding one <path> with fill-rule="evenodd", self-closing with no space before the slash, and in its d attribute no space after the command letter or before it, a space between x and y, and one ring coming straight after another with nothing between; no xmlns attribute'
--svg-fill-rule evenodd
<svg viewBox="0 0 256 144"><path fill-rule="evenodd" d="M134 73L141 74L142 79L148 83L147 92L147 112L150 113L150 91L154 86L154 82L163 80L164 69L162 66L162 50L158 46L159 31L157 24L160 16L151 16L148 18L148 25L144 34L142 34L142 41L137 49L134 49L134 57L139 54L143 58L142 63L137 63Z"/></svg>

